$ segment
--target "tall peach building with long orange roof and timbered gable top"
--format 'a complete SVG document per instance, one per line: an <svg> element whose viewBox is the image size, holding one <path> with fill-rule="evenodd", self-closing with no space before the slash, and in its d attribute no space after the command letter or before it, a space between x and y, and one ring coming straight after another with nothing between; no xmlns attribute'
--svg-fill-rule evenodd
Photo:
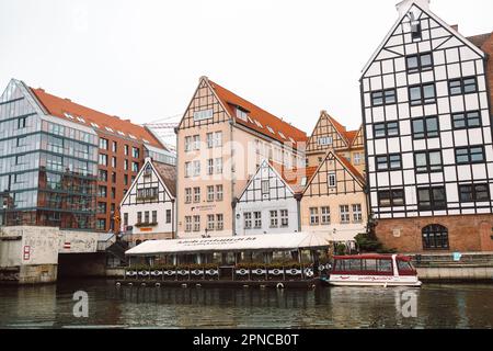
<svg viewBox="0 0 493 351"><path fill-rule="evenodd" d="M232 205L262 161L305 163L303 132L206 77L176 134L179 237L233 235Z"/></svg>

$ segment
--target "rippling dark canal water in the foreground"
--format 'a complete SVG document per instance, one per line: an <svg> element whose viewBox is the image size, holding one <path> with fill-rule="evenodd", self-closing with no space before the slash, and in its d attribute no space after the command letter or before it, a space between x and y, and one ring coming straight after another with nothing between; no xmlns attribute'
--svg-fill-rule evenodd
<svg viewBox="0 0 493 351"><path fill-rule="evenodd" d="M73 294L87 292L88 317ZM76 310L83 310L76 306ZM0 287L0 328L493 328L493 285L305 290Z"/></svg>

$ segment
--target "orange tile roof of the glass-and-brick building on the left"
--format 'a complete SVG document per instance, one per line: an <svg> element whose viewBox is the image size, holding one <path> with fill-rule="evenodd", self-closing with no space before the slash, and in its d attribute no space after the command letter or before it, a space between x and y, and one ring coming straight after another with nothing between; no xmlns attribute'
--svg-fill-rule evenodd
<svg viewBox="0 0 493 351"><path fill-rule="evenodd" d="M89 127L94 128L91 123L95 123L99 125L99 129L104 133L111 133L106 131L105 127L110 127L114 131L116 136L121 136L119 132L123 132L127 138L130 138L130 135L135 136L139 143L144 143L144 139L149 141L149 145L152 145L158 148L164 148L164 146L145 127L139 126L130 122L130 120L121 120L116 116L111 116L105 113L82 106L78 103L72 102L69 99L62 99L55 97L45 92L43 89L33 89L30 88L41 104L48 111L48 113L53 116L60 117L73 123L82 124ZM65 113L69 113L73 118L68 118ZM82 117L83 121L79 121L77 117Z"/></svg>

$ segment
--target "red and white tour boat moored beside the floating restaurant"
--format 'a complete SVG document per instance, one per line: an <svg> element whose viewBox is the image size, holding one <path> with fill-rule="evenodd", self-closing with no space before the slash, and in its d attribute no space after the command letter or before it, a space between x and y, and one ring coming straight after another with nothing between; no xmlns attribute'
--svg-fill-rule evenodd
<svg viewBox="0 0 493 351"><path fill-rule="evenodd" d="M401 254L335 256L329 284L354 286L421 286L411 258Z"/></svg>

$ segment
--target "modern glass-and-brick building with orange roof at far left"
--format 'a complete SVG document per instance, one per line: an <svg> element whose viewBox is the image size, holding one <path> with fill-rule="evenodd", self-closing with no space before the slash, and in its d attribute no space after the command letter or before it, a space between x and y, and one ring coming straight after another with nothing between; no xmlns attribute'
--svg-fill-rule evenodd
<svg viewBox="0 0 493 351"><path fill-rule="evenodd" d="M113 230L149 156L175 157L147 128L12 80L0 102L7 225Z"/></svg>

